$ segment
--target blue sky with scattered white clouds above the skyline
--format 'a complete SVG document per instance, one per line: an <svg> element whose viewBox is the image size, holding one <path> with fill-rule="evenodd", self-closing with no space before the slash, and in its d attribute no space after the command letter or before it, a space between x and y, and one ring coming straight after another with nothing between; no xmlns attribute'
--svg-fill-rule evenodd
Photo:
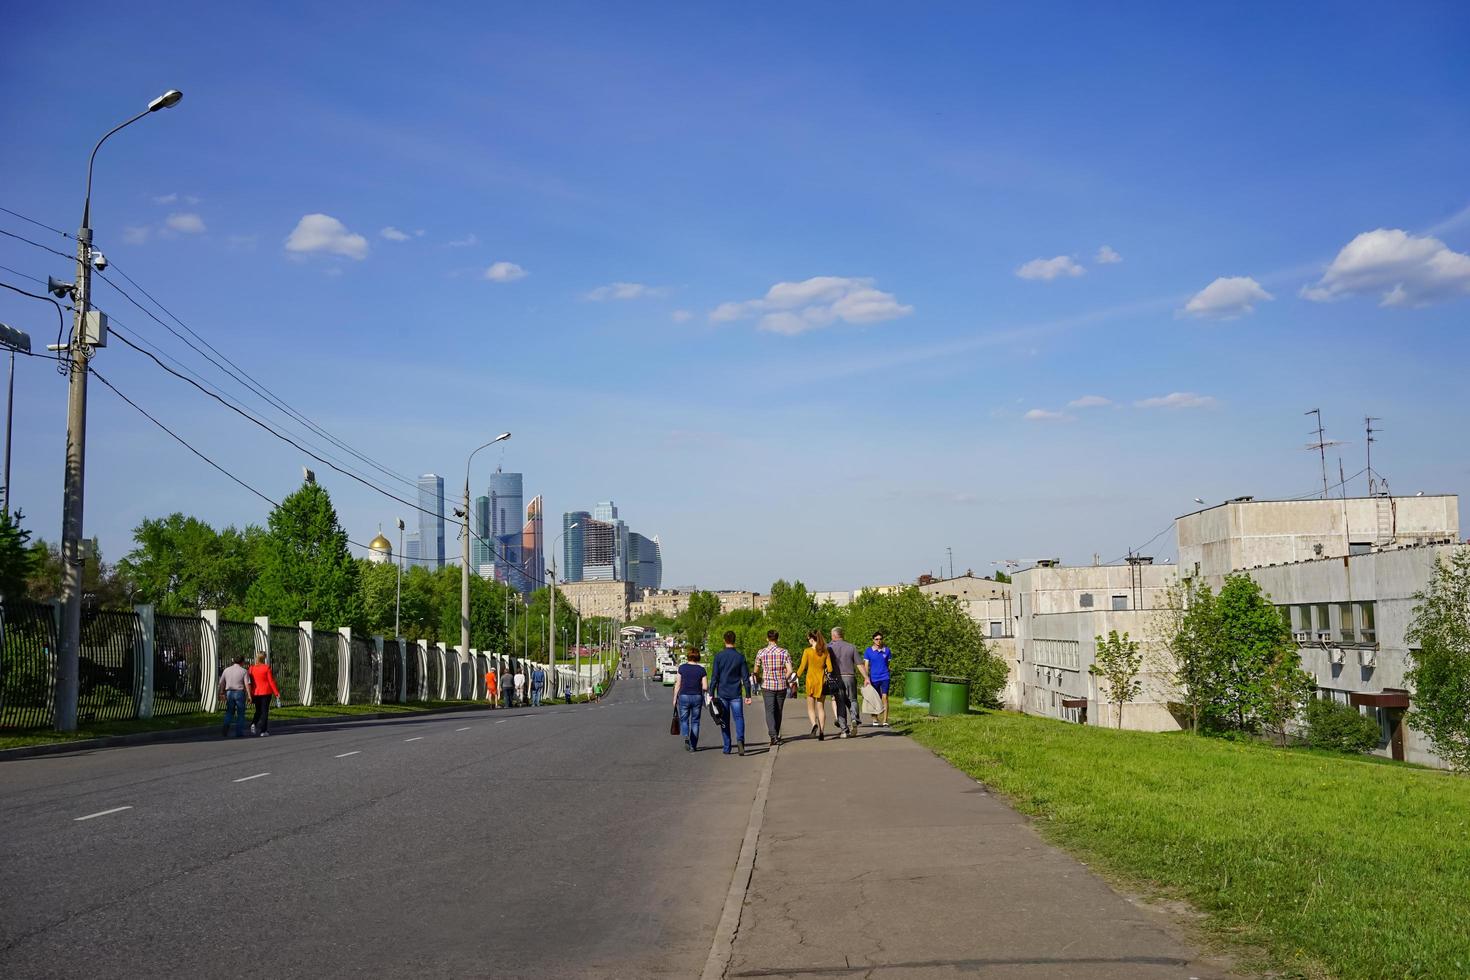
<svg viewBox="0 0 1470 980"><path fill-rule="evenodd" d="M513 430L476 492L503 461L553 516L613 498L669 583L1114 558L1195 497L1320 485L1314 407L1348 475L1373 414L1395 491L1470 488L1461 4L212 6L13 12L0 206L72 231L91 143L181 88L98 157L115 267L400 473L459 486ZM0 320L40 345L54 314ZM96 367L298 480L134 351ZM51 539L65 400L18 366L13 494ZM100 385L88 432L106 557L144 516L263 522ZM359 541L406 510L315 469Z"/></svg>

